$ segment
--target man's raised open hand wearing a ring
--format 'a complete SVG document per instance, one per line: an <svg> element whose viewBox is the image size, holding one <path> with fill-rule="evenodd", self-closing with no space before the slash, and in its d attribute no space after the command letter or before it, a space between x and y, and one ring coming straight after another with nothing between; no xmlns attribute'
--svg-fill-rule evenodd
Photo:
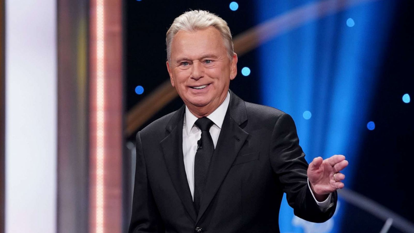
<svg viewBox="0 0 414 233"><path fill-rule="evenodd" d="M308 179L313 192L319 195L329 194L342 189L345 175L340 173L348 165L344 155L333 155L325 160L314 158L308 167Z"/></svg>

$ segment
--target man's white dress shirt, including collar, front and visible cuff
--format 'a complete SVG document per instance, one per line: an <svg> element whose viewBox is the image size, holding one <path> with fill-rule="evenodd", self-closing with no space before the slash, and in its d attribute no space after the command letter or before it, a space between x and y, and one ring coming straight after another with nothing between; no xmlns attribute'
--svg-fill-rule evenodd
<svg viewBox="0 0 414 233"><path fill-rule="evenodd" d="M210 135L213 139L214 148L216 148L217 140L219 139L221 126L223 125L224 116L226 115L227 108L230 103L230 92L227 92L227 97L220 106L214 110L210 115L207 116L208 119L213 121L213 125L210 128ZM183 125L183 155L184 155L184 167L185 173L187 175L188 186L190 187L191 196L194 199L194 158L195 153L197 152L197 141L201 138L201 130L194 125L197 121L197 116L194 116L188 107L185 106L185 115L184 115L184 125ZM310 189L310 184L308 180L308 187ZM315 195L310 189L310 192L315 199ZM326 209L330 206L330 198L332 194L329 194L325 201L316 201L320 209ZM332 205L331 205L332 206Z"/></svg>

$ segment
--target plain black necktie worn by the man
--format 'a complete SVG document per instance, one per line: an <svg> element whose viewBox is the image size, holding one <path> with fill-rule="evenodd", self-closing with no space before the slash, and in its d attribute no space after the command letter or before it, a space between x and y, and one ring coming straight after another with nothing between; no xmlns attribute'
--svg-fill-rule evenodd
<svg viewBox="0 0 414 233"><path fill-rule="evenodd" d="M197 142L197 152L194 159L194 207L196 213L200 210L200 197L206 185L208 168L214 152L213 139L209 131L213 124L213 121L207 117L195 121L195 125L201 130L201 138Z"/></svg>

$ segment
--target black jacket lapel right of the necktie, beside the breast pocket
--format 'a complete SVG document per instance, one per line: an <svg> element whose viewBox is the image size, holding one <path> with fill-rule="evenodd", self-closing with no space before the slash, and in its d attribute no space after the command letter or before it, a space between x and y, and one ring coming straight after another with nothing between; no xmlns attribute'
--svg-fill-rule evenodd
<svg viewBox="0 0 414 233"><path fill-rule="evenodd" d="M196 223L200 221L246 141L248 133L240 127L245 121L247 121L245 102L230 91L229 108L224 117L217 146L210 163L209 175Z"/></svg>

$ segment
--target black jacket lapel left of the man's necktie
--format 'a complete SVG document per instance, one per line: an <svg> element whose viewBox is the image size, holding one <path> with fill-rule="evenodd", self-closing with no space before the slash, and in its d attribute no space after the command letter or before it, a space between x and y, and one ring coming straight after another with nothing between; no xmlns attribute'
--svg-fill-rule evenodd
<svg viewBox="0 0 414 233"><path fill-rule="evenodd" d="M185 209L191 216L193 221L196 220L193 205L193 197L191 197L190 187L188 186L187 176L184 167L183 156L183 121L184 121L185 105L181 107L168 122L166 126L166 138L160 145L164 153L164 159L168 173L171 177L173 185L178 196L181 199Z"/></svg>

